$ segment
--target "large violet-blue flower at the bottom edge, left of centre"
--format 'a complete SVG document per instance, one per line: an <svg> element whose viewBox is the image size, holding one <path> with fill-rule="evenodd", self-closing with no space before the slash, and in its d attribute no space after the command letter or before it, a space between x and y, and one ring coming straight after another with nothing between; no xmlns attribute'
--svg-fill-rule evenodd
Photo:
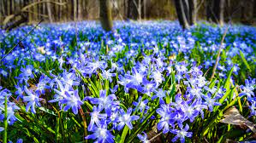
<svg viewBox="0 0 256 143"><path fill-rule="evenodd" d="M96 140L95 142L107 142L107 143L114 143L115 136L110 133L107 129L107 123L105 119L102 119L99 126L94 126L92 128L93 134L89 134L86 136L86 140L92 139Z"/></svg>

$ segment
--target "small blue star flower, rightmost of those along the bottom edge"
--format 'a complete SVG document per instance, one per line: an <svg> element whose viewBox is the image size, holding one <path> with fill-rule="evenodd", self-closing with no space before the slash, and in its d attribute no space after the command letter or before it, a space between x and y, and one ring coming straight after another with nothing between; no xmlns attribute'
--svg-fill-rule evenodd
<svg viewBox="0 0 256 143"><path fill-rule="evenodd" d="M178 140L180 138L181 142L184 143L185 142L185 137L192 137L192 132L188 132L189 126L188 124L186 124L185 128L181 130L178 129L171 129L170 132L172 134L176 134L176 136L171 140L172 142L176 142L176 140Z"/></svg>

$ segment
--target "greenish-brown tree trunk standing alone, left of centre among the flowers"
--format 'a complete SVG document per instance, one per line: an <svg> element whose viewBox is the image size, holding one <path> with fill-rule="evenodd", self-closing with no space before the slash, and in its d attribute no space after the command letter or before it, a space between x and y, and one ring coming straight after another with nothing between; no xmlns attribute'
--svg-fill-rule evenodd
<svg viewBox="0 0 256 143"><path fill-rule="evenodd" d="M111 31L113 26L110 0L99 0L99 17L105 31Z"/></svg>

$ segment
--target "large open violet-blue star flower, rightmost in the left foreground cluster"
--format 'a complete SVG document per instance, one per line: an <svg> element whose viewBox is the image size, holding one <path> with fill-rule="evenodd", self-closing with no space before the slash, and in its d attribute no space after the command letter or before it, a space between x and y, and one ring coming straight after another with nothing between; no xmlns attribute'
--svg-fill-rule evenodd
<svg viewBox="0 0 256 143"><path fill-rule="evenodd" d="M68 93L67 91L65 92L66 97L63 98L63 100L60 100L62 104L66 104L64 106L64 112L67 112L69 108L72 108L72 112L74 114L78 113L78 109L80 109L80 106L83 104L83 102L80 100L80 96L78 94L78 89L74 90L74 93Z"/></svg>

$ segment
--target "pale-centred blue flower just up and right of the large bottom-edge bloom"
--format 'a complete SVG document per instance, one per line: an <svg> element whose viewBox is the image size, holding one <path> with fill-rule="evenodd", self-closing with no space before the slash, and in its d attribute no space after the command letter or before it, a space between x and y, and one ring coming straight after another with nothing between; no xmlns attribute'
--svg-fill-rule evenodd
<svg viewBox="0 0 256 143"><path fill-rule="evenodd" d="M128 108L127 113L124 112L122 109L120 110L121 117L118 117L118 130L121 130L124 125L127 125L129 129L133 129L132 122L138 120L140 117L137 115L131 116L132 111L132 108Z"/></svg>

